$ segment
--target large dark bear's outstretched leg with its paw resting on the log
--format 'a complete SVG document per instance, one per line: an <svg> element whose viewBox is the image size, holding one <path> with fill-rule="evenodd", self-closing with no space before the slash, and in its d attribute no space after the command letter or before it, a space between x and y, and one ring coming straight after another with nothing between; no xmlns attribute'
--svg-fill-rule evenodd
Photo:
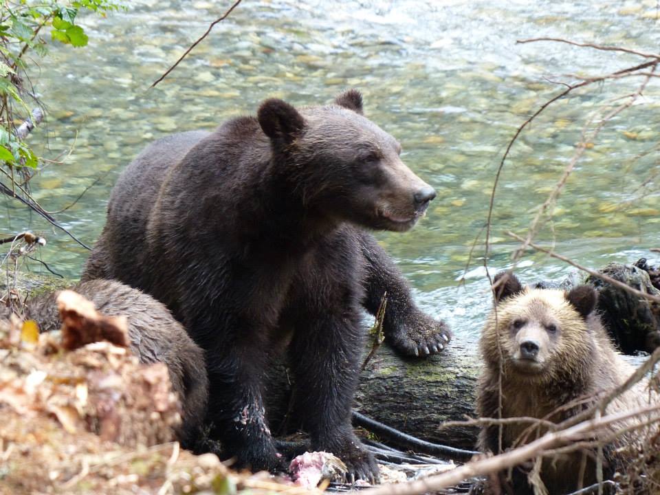
<svg viewBox="0 0 660 495"><path fill-rule="evenodd" d="M442 351L452 338L445 322L423 313L410 296L410 286L397 265L371 234L360 232L360 248L365 260L366 297L362 304L376 314L387 292L383 322L385 338L405 355L429 355Z"/></svg>

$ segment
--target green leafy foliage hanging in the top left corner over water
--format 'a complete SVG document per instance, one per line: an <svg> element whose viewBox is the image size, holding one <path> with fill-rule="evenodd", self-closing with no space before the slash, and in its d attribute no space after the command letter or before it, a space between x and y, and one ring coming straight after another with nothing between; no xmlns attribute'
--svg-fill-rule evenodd
<svg viewBox="0 0 660 495"><path fill-rule="evenodd" d="M26 54L47 56L45 33L49 30L55 43L84 47L89 38L77 23L78 14L88 11L105 16L121 8L112 0L0 0L0 185L20 190L30 179L30 170L39 166L39 158L25 142L27 133L17 135L21 123L30 118L30 107L35 106L32 91L23 87L33 63ZM14 175L16 171L22 181Z"/></svg>

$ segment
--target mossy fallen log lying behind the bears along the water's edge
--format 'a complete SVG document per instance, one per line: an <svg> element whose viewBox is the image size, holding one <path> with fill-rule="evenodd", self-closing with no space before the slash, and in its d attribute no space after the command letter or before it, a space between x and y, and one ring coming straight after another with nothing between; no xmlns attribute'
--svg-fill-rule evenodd
<svg viewBox="0 0 660 495"><path fill-rule="evenodd" d="M651 285L648 271L640 267L611 264L602 272L635 289L660 295L660 291ZM599 310L622 351L636 353L652 351L657 347L660 342L657 305L598 278L591 277L588 281L599 290ZM26 279L25 285L33 293L41 292L39 283L32 277ZM562 288L566 287L562 285ZM368 342L367 347L365 356L371 351L372 342ZM472 450L478 428L439 427L445 421L461 421L476 416L474 397L476 379L481 369L477 349L476 337L461 335L460 331L456 332L456 338L448 349L426 359L403 358L384 344L362 371L355 395L355 410L419 439ZM267 410L273 432L281 434L296 429L296 421L287 414L290 412L292 380L282 366L274 370L273 376ZM375 436L397 443L381 438L382 435L377 433ZM405 448L405 445L401 447Z"/></svg>

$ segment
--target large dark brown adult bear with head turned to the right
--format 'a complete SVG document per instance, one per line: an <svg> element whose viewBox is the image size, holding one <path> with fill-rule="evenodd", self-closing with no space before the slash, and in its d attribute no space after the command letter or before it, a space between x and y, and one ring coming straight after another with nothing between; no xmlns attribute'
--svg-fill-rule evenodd
<svg viewBox="0 0 660 495"><path fill-rule="evenodd" d="M409 230L435 196L400 151L362 115L358 91L323 107L270 99L256 118L155 142L115 185L83 279L152 294L206 351L206 420L236 465L285 469L262 395L270 358L286 350L311 448L339 456L349 478L377 478L351 428L360 304L403 294L388 305L391 342L424 354L447 344L361 230Z"/></svg>

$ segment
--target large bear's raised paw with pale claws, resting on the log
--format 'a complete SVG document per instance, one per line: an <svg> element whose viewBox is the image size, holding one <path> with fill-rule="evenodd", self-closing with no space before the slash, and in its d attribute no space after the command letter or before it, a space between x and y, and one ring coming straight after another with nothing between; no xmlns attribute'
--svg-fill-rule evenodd
<svg viewBox="0 0 660 495"><path fill-rule="evenodd" d="M437 354L452 340L447 324L421 313L404 318L396 329L385 329L392 347L404 355L426 356Z"/></svg>

